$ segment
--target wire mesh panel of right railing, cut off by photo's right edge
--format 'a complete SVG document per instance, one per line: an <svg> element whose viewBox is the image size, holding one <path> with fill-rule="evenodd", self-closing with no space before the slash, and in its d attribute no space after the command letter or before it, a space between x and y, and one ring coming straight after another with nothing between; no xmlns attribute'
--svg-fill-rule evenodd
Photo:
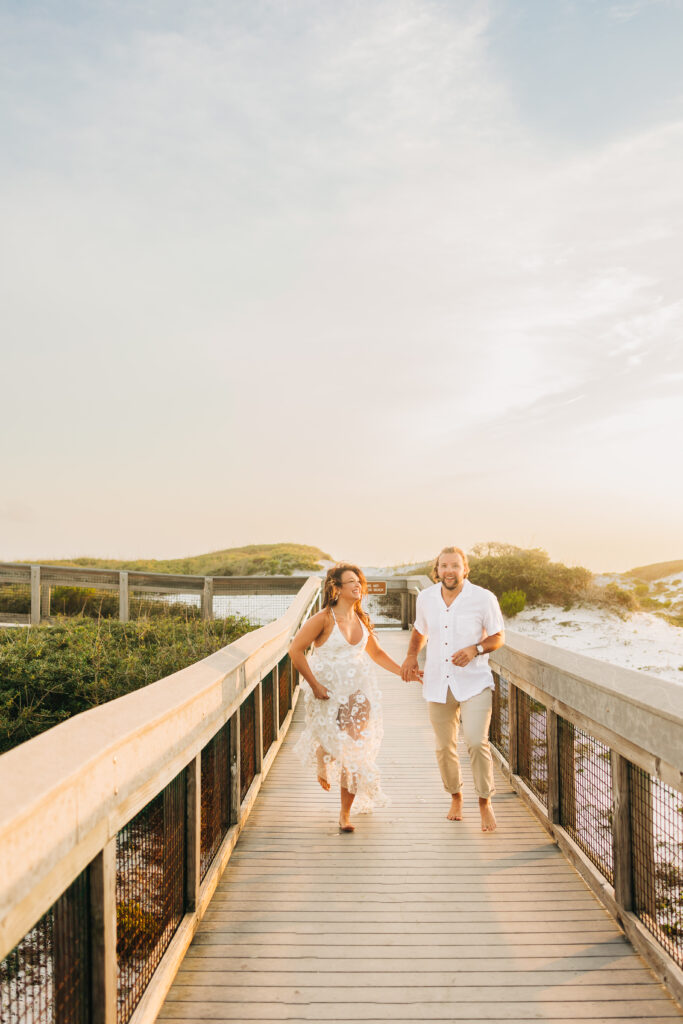
<svg viewBox="0 0 683 1024"><path fill-rule="evenodd" d="M683 967L683 794L629 765L634 910Z"/></svg>

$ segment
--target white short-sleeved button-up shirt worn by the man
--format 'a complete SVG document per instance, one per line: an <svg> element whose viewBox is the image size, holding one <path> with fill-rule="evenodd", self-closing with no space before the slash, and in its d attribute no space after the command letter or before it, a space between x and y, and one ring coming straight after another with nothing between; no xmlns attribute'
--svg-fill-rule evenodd
<svg viewBox="0 0 683 1024"><path fill-rule="evenodd" d="M425 700L445 703L451 688L456 700L467 700L486 688L494 689L488 655L478 654L460 669L451 658L462 647L480 643L505 624L498 599L489 590L465 580L451 605L441 595L441 584L418 594L415 628L427 637L422 695Z"/></svg>

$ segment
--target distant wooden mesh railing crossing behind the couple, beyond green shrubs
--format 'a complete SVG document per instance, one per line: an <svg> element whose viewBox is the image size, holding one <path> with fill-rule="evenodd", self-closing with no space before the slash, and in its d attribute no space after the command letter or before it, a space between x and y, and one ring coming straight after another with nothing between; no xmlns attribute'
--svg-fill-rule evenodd
<svg viewBox="0 0 683 1024"><path fill-rule="evenodd" d="M38 626L56 615L128 622L156 614L202 618L244 615L255 626L284 615L308 577L200 577L87 566L0 563L0 623ZM375 580L376 578L371 578ZM384 596L366 599L377 625L408 629L420 579L385 580ZM1 1022L0 1022L1 1024Z"/></svg>

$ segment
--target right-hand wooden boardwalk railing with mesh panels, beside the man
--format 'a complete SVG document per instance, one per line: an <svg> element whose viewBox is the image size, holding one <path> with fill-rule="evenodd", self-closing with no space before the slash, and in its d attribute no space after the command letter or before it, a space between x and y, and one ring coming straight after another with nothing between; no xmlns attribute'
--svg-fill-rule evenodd
<svg viewBox="0 0 683 1024"><path fill-rule="evenodd" d="M683 686L511 633L489 662L504 772L683 999Z"/></svg>

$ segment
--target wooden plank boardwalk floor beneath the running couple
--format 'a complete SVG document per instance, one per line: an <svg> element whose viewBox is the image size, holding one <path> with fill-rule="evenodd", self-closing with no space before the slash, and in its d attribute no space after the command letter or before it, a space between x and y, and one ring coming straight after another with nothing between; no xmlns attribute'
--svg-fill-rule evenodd
<svg viewBox="0 0 683 1024"><path fill-rule="evenodd" d="M397 660L407 640L380 636ZM682 1019L502 777L496 834L467 765L466 818L445 820L418 687L382 685L391 807L338 833L338 794L293 753L299 705L160 1020Z"/></svg>

